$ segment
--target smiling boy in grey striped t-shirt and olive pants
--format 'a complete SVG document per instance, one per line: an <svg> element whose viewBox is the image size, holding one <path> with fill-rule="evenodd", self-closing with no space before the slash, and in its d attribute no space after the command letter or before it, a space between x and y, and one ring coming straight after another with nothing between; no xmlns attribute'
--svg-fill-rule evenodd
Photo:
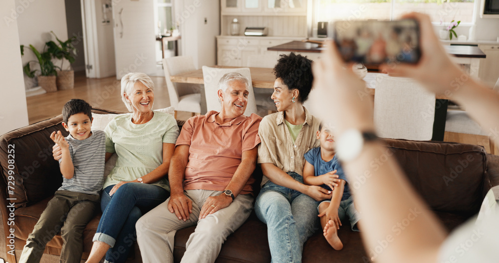
<svg viewBox="0 0 499 263"><path fill-rule="evenodd" d="M60 131L50 139L61 147L59 160L62 186L55 192L29 234L19 263L38 263L47 242L59 232L62 245L60 262L80 262L83 252L83 230L99 210L104 182L106 134L91 130L91 107L84 100L72 99L62 109L62 126L69 131L64 138Z"/></svg>

